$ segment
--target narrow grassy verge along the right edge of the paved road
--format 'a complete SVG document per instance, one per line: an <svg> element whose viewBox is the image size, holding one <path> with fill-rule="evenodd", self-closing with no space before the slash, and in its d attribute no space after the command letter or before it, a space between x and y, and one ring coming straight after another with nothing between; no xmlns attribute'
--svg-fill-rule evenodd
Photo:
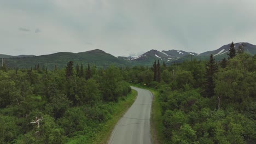
<svg viewBox="0 0 256 144"><path fill-rule="evenodd" d="M164 143L164 134L162 133L164 125L162 124L161 106L159 104L159 92L153 88L148 88L142 85L132 86L148 89L148 91L152 92L153 101L150 116L150 132L154 144Z"/></svg>

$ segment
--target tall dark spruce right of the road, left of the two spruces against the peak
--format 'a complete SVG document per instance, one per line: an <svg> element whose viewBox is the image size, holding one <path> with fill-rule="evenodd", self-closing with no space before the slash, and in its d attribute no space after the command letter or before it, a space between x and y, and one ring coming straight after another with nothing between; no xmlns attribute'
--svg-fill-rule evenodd
<svg viewBox="0 0 256 144"><path fill-rule="evenodd" d="M213 55L210 56L210 61L206 63L206 82L205 82L205 88L204 88L204 95L205 97L213 97L214 95L214 81L213 81L213 75L218 70L218 65L216 64Z"/></svg>

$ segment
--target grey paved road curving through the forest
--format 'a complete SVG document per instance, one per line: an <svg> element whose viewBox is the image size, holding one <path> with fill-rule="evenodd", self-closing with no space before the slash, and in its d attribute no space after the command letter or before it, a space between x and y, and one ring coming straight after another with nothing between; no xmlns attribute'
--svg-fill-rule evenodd
<svg viewBox="0 0 256 144"><path fill-rule="evenodd" d="M152 93L145 89L132 87L138 92L137 99L130 109L115 125L109 144L151 144L150 112Z"/></svg>

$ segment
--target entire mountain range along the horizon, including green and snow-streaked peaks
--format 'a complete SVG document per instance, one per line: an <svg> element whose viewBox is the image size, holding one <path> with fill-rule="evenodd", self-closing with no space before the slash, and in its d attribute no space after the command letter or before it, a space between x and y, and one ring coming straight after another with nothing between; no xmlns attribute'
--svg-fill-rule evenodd
<svg viewBox="0 0 256 144"><path fill-rule="evenodd" d="M249 43L236 43L235 48L243 45L245 52L251 55L256 54L256 45ZM58 52L50 55L33 56L33 55L20 55L20 56L8 56L0 55L0 58L5 58L5 64L9 68L30 68L34 65L45 65L49 69L54 69L55 65L59 68L63 68L67 65L67 62L73 61L74 64L92 64L97 67L107 67L108 65L117 65L120 67L131 66L131 65L147 65L150 66L154 61L160 60L165 61L166 64L170 65L173 63L181 63L183 61L191 61L192 59L208 61L210 55L213 54L216 61L221 61L224 57L228 57L226 53L229 50L228 45L224 45L214 51L206 51L199 55L195 52L186 52L182 50L168 50L158 51L150 50L143 53L138 57L115 57L106 53L102 50L92 50L86 52L72 53L72 52Z"/></svg>

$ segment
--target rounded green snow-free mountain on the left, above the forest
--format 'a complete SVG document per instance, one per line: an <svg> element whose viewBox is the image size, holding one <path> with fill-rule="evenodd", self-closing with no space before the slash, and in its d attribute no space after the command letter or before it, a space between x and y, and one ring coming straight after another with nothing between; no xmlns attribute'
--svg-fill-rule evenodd
<svg viewBox="0 0 256 144"><path fill-rule="evenodd" d="M129 62L119 59L106 53L102 50L92 50L86 52L72 53L72 52L58 52L50 55L42 55L35 57L22 57L22 58L5 58L5 64L10 68L34 68L34 65L45 65L48 69L54 69L55 65L63 68L67 62L73 61L74 64L92 64L97 67L105 67L109 65L130 65Z"/></svg>

